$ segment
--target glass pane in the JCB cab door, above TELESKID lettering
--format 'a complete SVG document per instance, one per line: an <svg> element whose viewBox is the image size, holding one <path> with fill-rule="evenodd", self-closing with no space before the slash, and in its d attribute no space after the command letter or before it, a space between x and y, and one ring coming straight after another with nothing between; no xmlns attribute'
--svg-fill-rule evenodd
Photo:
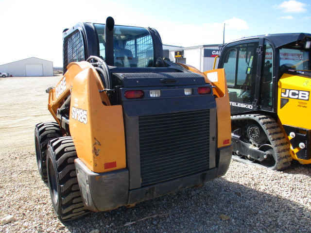
<svg viewBox="0 0 311 233"><path fill-rule="evenodd" d="M258 43L238 44L225 53L225 75L231 101L252 103L255 95Z"/></svg>

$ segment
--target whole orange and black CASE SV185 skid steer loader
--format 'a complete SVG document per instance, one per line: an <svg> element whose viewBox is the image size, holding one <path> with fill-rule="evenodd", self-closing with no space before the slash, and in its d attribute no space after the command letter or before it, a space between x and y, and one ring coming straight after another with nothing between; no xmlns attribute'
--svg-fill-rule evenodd
<svg viewBox="0 0 311 233"><path fill-rule="evenodd" d="M225 174L232 148L224 69L201 73L163 59L155 29L115 26L111 17L63 37L65 74L47 89L55 122L35 127L38 169L61 220Z"/></svg>

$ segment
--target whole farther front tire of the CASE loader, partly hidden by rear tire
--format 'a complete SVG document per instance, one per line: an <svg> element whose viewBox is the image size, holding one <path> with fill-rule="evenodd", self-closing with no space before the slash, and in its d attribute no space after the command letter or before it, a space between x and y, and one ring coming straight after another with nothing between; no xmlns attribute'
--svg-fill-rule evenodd
<svg viewBox="0 0 311 233"><path fill-rule="evenodd" d="M61 129L56 122L40 123L35 126L35 155L40 176L48 182L47 148L52 139L62 136Z"/></svg>

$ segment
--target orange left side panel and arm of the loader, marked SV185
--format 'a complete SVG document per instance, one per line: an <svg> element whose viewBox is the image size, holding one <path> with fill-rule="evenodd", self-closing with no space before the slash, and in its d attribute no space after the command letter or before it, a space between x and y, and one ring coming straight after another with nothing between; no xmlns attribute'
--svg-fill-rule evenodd
<svg viewBox="0 0 311 233"><path fill-rule="evenodd" d="M56 111L71 92L69 131L78 158L93 172L126 167L121 105L111 106L97 71L88 63L70 63L50 91L49 110ZM113 132L113 133L111 133Z"/></svg>

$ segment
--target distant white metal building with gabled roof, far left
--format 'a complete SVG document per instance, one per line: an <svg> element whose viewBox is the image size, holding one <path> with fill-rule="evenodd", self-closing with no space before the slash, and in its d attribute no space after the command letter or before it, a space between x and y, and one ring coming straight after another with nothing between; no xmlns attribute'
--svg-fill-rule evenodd
<svg viewBox="0 0 311 233"><path fill-rule="evenodd" d="M53 76L53 63L47 60L31 57L0 65L0 72L8 73L13 77Z"/></svg>

